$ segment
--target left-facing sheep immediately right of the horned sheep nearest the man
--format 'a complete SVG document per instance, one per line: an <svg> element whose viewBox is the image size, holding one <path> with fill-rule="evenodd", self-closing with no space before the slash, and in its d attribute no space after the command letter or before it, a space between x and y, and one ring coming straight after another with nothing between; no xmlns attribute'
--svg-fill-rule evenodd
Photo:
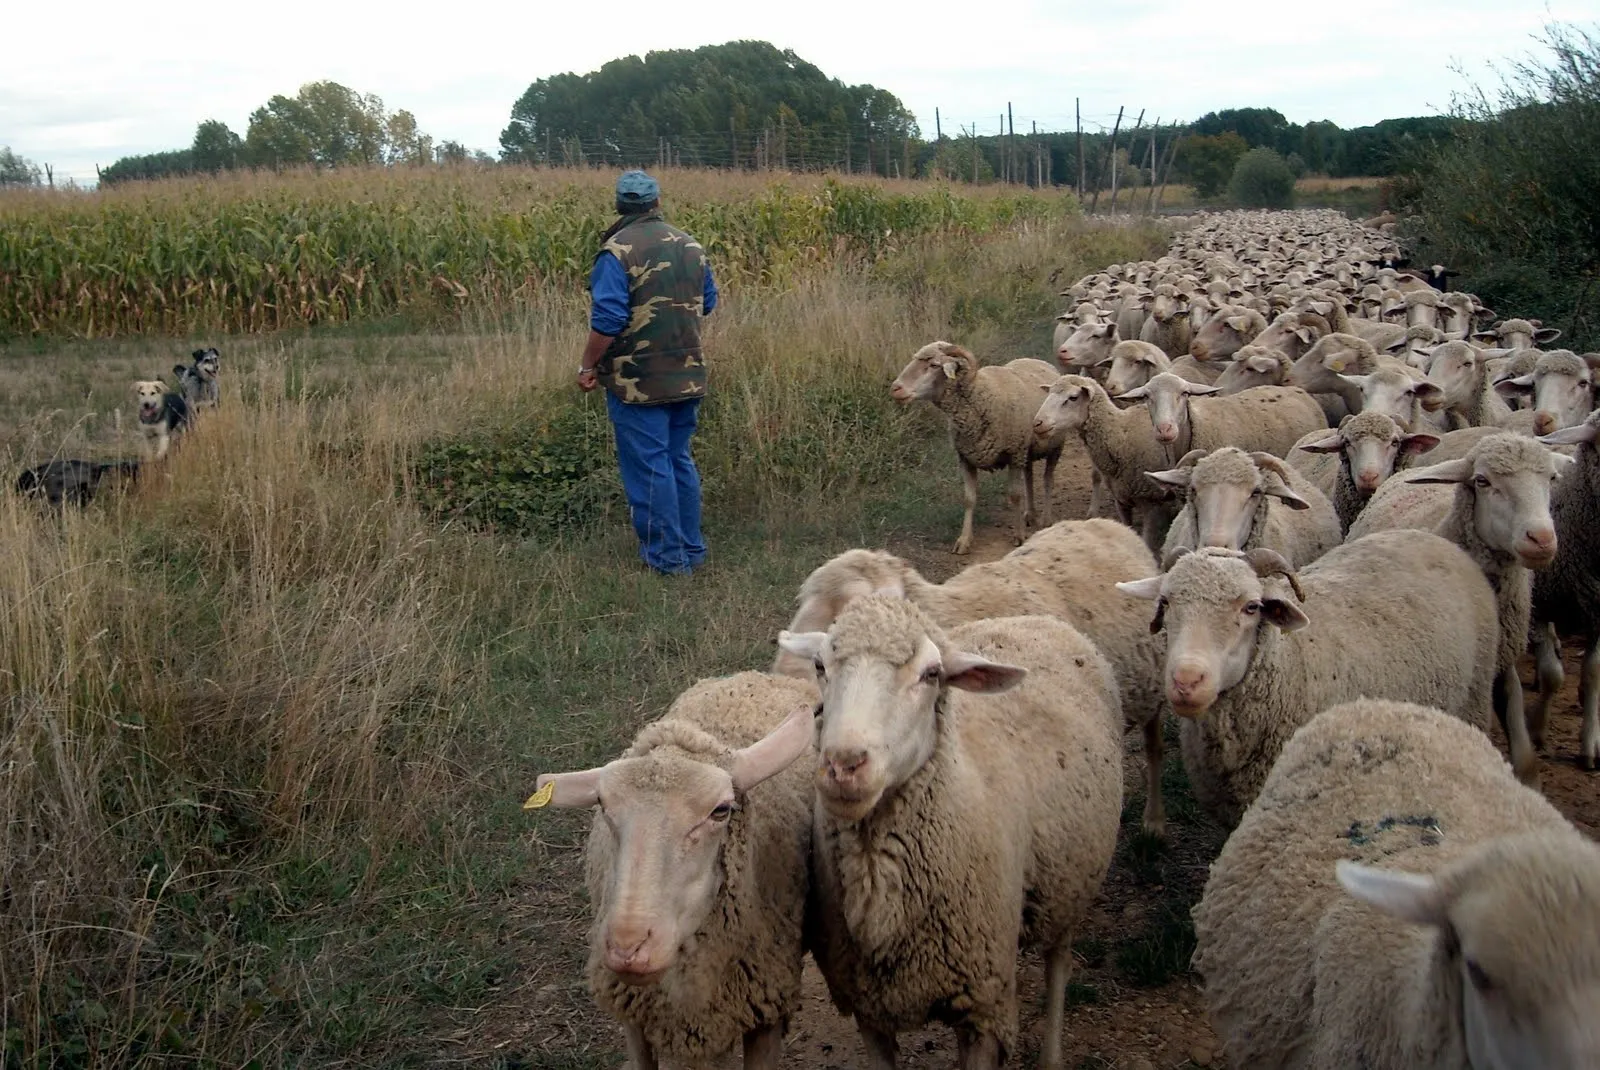
<svg viewBox="0 0 1600 1070"><path fill-rule="evenodd" d="M1165 488L1144 478L1146 472L1168 464L1166 448L1150 435L1149 414L1139 406L1117 408L1104 387L1086 376L1061 376L1045 392L1034 416L1034 433L1054 437L1062 432L1083 441L1117 520L1131 526L1139 515L1139 531L1154 553L1176 507Z"/></svg>

